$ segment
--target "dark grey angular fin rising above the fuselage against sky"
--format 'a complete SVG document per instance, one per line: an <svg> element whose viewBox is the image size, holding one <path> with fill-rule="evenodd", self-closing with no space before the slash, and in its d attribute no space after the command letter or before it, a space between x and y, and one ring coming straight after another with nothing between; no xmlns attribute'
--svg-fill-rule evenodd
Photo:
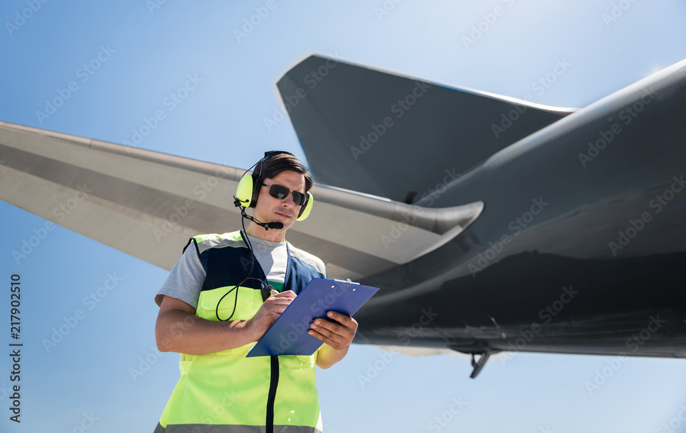
<svg viewBox="0 0 686 433"><path fill-rule="evenodd" d="M318 183L406 203L573 112L320 56L276 86Z"/></svg>

